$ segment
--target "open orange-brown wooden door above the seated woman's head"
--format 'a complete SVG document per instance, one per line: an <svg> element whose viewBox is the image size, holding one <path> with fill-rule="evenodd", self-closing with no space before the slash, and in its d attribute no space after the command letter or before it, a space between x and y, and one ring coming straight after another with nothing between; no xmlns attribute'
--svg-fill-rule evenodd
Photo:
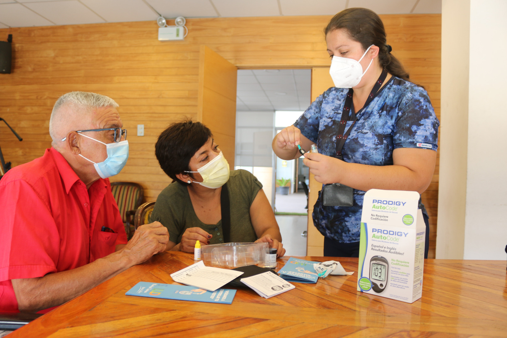
<svg viewBox="0 0 507 338"><path fill-rule="evenodd" d="M238 68L201 46L197 119L205 124L234 170L236 144L236 81Z"/></svg>

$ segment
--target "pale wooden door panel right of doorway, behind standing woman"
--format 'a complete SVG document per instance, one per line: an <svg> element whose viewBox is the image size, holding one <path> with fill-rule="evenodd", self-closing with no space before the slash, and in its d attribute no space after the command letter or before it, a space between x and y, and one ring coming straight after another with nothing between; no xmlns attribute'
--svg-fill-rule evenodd
<svg viewBox="0 0 507 338"><path fill-rule="evenodd" d="M329 67L312 68L312 102L323 92L333 87L333 80L329 74ZM324 255L324 236L313 225L312 212L313 205L317 201L318 192L322 189L322 184L315 180L310 173L310 184L308 186L308 239L306 244L306 254L308 256Z"/></svg>

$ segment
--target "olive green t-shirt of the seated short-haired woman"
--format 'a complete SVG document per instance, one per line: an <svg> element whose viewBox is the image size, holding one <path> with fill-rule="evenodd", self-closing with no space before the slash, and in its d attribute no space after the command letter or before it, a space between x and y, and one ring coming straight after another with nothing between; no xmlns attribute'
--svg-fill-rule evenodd
<svg viewBox="0 0 507 338"><path fill-rule="evenodd" d="M195 184L195 183L194 183ZM262 184L246 170L231 170L227 181L231 210L231 242L255 242L257 235L250 220L250 206ZM188 228L199 227L211 237L210 244L224 243L222 220L204 224L195 214L187 186L178 182L169 184L158 196L151 221L159 221L169 231L169 240L178 244Z"/></svg>

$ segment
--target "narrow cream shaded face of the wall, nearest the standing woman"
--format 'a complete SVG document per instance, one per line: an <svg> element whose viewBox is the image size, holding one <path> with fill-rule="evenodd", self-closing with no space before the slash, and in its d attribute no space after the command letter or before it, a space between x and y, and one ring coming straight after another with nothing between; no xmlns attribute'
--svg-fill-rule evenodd
<svg viewBox="0 0 507 338"><path fill-rule="evenodd" d="M437 258L462 259L468 138L469 1L442 2Z"/></svg>

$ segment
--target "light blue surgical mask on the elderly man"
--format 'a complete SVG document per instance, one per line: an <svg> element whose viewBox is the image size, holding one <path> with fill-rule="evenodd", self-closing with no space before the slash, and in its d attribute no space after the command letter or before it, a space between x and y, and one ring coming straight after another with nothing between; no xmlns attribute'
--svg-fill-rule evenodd
<svg viewBox="0 0 507 338"><path fill-rule="evenodd" d="M107 158L100 163L95 163L91 160L88 160L83 155L79 154L85 160L93 163L95 170L101 178L107 178L114 175L117 175L125 166L128 159L128 141L121 142L113 142L113 143L104 143L99 140L94 139L93 137L86 136L84 134L80 134L81 136L88 137L94 141L105 144L107 149Z"/></svg>

